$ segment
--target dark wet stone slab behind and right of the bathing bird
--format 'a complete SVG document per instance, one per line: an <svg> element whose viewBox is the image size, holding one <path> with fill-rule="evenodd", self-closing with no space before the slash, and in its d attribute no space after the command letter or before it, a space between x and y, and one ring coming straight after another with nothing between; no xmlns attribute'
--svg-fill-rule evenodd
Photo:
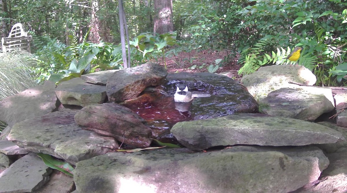
<svg viewBox="0 0 347 193"><path fill-rule="evenodd" d="M220 117L236 112L255 113L258 104L247 88L231 78L207 72L169 74L168 93L174 94L177 83L188 85L190 91L210 93L208 98L194 99L190 112L194 120ZM171 91L171 92L170 92Z"/></svg>

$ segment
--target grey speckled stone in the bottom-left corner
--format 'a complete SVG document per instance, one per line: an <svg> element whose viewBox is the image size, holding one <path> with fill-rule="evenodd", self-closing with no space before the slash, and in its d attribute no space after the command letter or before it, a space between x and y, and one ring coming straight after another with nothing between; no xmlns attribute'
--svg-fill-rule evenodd
<svg viewBox="0 0 347 193"><path fill-rule="evenodd" d="M32 192L49 181L51 172L39 156L28 154L0 174L0 192Z"/></svg>

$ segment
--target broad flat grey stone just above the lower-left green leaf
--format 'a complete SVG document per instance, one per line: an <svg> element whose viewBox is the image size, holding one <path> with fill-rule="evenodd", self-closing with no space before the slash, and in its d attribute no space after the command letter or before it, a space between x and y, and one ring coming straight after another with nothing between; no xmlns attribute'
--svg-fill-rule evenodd
<svg viewBox="0 0 347 193"><path fill-rule="evenodd" d="M110 151L102 146L118 147L113 138L82 130L74 121L76 112L78 110L64 109L19 122L12 127L8 140L32 152L65 159L73 165Z"/></svg>

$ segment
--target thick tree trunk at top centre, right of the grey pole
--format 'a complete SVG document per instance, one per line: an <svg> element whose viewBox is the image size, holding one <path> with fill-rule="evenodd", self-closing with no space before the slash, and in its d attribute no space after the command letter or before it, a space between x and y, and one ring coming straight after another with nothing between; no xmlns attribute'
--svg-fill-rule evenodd
<svg viewBox="0 0 347 193"><path fill-rule="evenodd" d="M172 0L154 0L154 33L165 34L174 31Z"/></svg>

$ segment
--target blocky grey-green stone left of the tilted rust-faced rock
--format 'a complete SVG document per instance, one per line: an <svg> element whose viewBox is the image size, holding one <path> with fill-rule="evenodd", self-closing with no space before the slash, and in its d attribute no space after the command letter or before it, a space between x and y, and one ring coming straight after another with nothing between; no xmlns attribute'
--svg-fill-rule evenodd
<svg viewBox="0 0 347 193"><path fill-rule="evenodd" d="M62 104L86 106L101 104L106 99L106 86L90 84L81 78L74 78L59 84L57 98Z"/></svg>

